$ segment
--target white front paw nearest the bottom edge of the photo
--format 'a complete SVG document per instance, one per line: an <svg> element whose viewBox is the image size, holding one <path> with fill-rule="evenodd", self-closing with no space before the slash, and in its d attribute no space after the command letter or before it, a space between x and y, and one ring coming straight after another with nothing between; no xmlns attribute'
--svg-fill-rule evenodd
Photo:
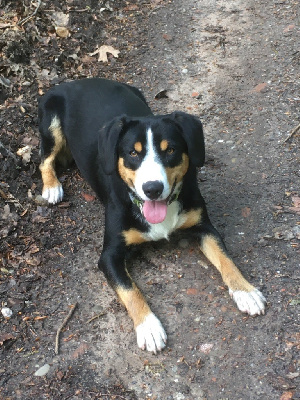
<svg viewBox="0 0 300 400"><path fill-rule="evenodd" d="M156 354L161 351L167 342L167 334L159 319L151 313L147 315L144 322L136 328L137 344L140 349L148 350Z"/></svg>

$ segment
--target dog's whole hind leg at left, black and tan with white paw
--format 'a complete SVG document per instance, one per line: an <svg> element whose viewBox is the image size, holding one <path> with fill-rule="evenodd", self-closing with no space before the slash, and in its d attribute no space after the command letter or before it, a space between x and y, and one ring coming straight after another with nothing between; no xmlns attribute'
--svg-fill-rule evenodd
<svg viewBox="0 0 300 400"><path fill-rule="evenodd" d="M47 119L49 117L46 117L40 123L42 196L49 203L55 204L63 198L63 188L56 176L55 162L62 158L62 153L66 151L67 146L59 117L52 117L48 124Z"/></svg>

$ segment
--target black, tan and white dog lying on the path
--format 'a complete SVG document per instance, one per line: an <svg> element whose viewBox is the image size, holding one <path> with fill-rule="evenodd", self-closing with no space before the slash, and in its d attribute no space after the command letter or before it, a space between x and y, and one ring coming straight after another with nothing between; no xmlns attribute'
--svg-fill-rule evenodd
<svg viewBox="0 0 300 400"><path fill-rule="evenodd" d="M71 159L105 206L99 268L126 307L141 349L156 353L167 335L127 271L131 246L189 229L219 270L237 307L264 314L266 300L240 273L212 226L197 183L205 149L200 120L153 115L135 87L101 78L62 83L39 102L42 196L63 198L56 161Z"/></svg>

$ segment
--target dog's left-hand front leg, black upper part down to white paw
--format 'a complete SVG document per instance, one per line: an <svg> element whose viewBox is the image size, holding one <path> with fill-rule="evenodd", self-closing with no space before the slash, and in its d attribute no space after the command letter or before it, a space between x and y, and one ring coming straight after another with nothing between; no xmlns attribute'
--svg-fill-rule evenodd
<svg viewBox="0 0 300 400"><path fill-rule="evenodd" d="M125 244L121 240L116 243L116 237L113 245L106 242L99 260L99 268L132 318L138 346L143 350L156 353L165 347L167 335L161 322L153 314L141 291L130 277L125 266L125 251Z"/></svg>

